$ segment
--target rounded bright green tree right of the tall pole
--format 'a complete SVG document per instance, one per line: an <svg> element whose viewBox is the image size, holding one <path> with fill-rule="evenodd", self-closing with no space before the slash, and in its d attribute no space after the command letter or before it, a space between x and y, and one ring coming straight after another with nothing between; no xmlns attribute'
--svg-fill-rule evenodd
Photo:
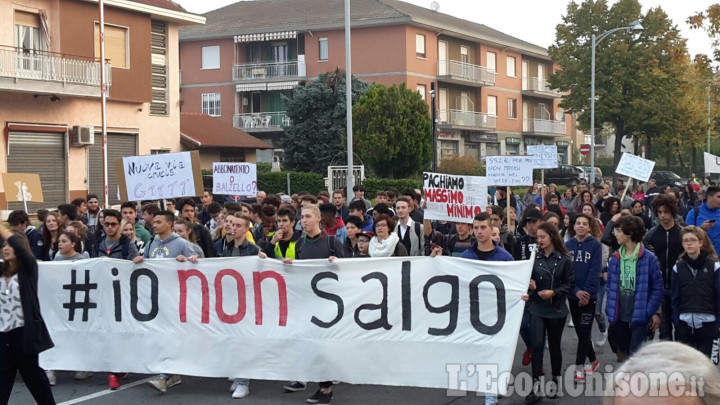
<svg viewBox="0 0 720 405"><path fill-rule="evenodd" d="M428 105L405 83L372 85L353 106L353 127L353 148L377 176L409 177L429 168Z"/></svg>

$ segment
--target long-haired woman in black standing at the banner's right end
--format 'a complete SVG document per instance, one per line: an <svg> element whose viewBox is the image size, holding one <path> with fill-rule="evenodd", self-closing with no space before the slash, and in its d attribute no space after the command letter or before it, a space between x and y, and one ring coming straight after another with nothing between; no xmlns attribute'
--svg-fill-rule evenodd
<svg viewBox="0 0 720 405"><path fill-rule="evenodd" d="M560 233L552 224L540 224L537 230L538 251L535 257L530 293L530 331L532 340L533 391L525 398L527 403L536 403L538 384L543 369L544 342L547 335L550 349L552 380L557 382L562 375L562 333L568 316L567 295L575 286L573 262ZM549 394L555 397L557 394Z"/></svg>

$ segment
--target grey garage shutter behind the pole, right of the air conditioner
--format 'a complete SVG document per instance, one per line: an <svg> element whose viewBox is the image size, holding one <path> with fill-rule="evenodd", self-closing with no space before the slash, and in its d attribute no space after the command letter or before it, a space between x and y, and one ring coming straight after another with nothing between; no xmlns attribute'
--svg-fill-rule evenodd
<svg viewBox="0 0 720 405"><path fill-rule="evenodd" d="M120 204L115 159L137 154L137 135L108 134L108 197L111 205ZM88 190L103 203L102 135L95 134L95 144L88 150Z"/></svg>

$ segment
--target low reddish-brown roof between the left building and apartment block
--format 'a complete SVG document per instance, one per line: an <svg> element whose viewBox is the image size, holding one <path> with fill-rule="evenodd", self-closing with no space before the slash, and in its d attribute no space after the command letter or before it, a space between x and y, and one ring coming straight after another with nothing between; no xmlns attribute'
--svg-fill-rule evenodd
<svg viewBox="0 0 720 405"><path fill-rule="evenodd" d="M191 149L272 149L272 146L245 131L199 113L180 113L180 142Z"/></svg>

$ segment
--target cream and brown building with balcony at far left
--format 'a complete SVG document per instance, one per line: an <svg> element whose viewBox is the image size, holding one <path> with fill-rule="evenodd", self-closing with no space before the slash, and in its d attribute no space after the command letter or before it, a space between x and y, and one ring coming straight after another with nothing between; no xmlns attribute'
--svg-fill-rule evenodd
<svg viewBox="0 0 720 405"><path fill-rule="evenodd" d="M44 203L103 195L97 1L0 2L0 172L37 173ZM178 27L202 24L169 0L106 0L110 203L115 158L181 150ZM7 202L0 184L0 209Z"/></svg>

